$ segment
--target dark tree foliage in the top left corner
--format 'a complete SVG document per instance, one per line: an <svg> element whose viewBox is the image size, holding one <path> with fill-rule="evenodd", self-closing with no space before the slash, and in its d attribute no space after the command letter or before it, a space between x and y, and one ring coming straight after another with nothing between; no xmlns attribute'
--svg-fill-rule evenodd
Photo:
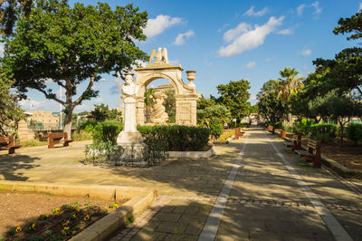
<svg viewBox="0 0 362 241"><path fill-rule="evenodd" d="M33 0L0 1L0 34L3 37L13 34L14 24L19 14L24 13L28 16L32 10L32 3Z"/></svg>

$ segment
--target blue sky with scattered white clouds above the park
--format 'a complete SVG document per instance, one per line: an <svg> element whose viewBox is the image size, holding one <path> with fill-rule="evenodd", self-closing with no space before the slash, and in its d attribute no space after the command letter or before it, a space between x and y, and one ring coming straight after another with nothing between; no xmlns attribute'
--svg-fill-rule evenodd
<svg viewBox="0 0 362 241"><path fill-rule="evenodd" d="M75 1L70 1L71 5ZM78 1L96 5L99 1ZM112 8L132 3L148 12L145 42L138 47L151 53L166 47L172 64L186 71L195 70L196 91L208 98L217 96L216 86L230 81L248 80L251 98L262 83L280 77L284 67L296 68L300 76L313 72L316 58L333 58L344 48L357 45L346 35L333 34L338 19L356 14L362 1L247 1L247 0L136 0L105 1ZM0 46L0 53L2 46ZM94 104L118 107L116 77L103 74L94 89L99 97L83 101L74 112L90 111ZM167 82L157 80L148 87ZM81 89L85 89L85 84ZM53 90L59 87L51 85ZM29 92L21 104L26 111L59 111L55 101L46 100L40 92ZM64 97L62 97L64 98ZM63 99L64 100L64 99Z"/></svg>

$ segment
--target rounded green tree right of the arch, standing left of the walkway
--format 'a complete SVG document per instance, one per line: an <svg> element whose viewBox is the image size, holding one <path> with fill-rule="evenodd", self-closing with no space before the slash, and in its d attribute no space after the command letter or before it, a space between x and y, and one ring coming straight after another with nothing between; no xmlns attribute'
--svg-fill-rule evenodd
<svg viewBox="0 0 362 241"><path fill-rule="evenodd" d="M237 82L229 82L227 84L219 84L216 87L217 92L220 94L217 102L223 104L232 113L232 117L236 119L237 123L248 114L247 101L250 97L250 82L240 80Z"/></svg>

